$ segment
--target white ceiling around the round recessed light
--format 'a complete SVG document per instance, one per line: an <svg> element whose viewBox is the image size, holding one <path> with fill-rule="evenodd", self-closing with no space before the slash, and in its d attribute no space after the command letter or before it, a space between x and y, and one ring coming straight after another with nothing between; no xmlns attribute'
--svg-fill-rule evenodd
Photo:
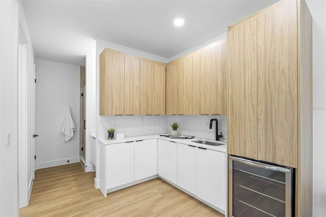
<svg viewBox="0 0 326 217"><path fill-rule="evenodd" d="M170 58L275 2L23 0L22 5L36 58L85 66L96 39ZM177 17L183 26L174 26Z"/></svg>

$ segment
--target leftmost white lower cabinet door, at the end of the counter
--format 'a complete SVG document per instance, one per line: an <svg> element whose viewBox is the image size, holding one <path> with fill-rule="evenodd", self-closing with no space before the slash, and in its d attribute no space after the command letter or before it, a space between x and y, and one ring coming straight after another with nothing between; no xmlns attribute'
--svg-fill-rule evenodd
<svg viewBox="0 0 326 217"><path fill-rule="evenodd" d="M107 145L106 188L112 189L134 180L133 142Z"/></svg>

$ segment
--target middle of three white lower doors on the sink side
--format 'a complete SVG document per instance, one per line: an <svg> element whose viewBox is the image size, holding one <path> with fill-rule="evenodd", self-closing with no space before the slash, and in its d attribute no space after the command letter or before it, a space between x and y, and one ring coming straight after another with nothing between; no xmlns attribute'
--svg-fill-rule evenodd
<svg viewBox="0 0 326 217"><path fill-rule="evenodd" d="M177 179L178 185L184 190L196 195L197 185L197 147L178 143Z"/></svg>

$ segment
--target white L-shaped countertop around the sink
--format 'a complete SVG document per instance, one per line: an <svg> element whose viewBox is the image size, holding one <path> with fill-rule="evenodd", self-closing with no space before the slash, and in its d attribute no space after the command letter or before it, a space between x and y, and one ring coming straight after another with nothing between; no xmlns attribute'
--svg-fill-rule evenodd
<svg viewBox="0 0 326 217"><path fill-rule="evenodd" d="M107 140L107 139L102 140L102 139L99 139L98 141L103 145L110 145L110 144L117 144L117 143L137 141L137 140L162 139L162 140L177 142L177 143L181 143L181 144L193 145L193 146L197 146L197 147L207 148L207 149L210 149L210 150L222 151L222 152L226 153L226 145L227 145L227 143L224 142L224 141L218 141L219 143L222 143L224 145L213 146L213 145L204 145L204 144L192 142L194 140L199 140L199 139L216 142L215 140L212 140L212 139L206 139L206 138L200 138L200 137L195 137L193 139L179 139L179 138L168 138L168 137L159 136L159 135L165 135L165 134L135 136L135 137L127 137L127 138L123 138L123 139L114 139L114 140Z"/></svg>

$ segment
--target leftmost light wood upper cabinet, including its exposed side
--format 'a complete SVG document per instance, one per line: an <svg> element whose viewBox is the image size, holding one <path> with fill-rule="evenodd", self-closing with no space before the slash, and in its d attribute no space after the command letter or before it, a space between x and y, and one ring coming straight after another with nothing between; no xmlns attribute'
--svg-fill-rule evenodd
<svg viewBox="0 0 326 217"><path fill-rule="evenodd" d="M100 54L100 115L124 114L124 56L108 52ZM103 63L104 61L104 63Z"/></svg>

